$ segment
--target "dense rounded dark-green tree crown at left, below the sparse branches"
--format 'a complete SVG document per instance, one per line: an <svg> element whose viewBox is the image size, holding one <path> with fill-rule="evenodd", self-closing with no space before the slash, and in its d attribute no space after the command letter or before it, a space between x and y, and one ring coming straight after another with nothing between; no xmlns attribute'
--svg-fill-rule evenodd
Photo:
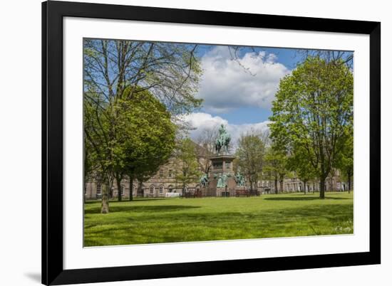
<svg viewBox="0 0 392 286"><path fill-rule="evenodd" d="M93 96L99 100L99 94ZM119 200L123 176L132 181L154 174L172 154L175 124L165 105L148 90L133 92L132 99L125 96L111 104L85 100L84 114L88 158L98 166L99 178L109 189L117 182Z"/></svg>

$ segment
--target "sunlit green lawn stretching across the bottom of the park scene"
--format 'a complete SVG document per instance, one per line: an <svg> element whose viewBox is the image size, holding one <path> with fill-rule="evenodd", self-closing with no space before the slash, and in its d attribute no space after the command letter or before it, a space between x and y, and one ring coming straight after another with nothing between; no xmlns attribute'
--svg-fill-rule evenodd
<svg viewBox="0 0 392 286"><path fill-rule="evenodd" d="M85 205L85 246L353 233L353 194L139 198Z"/></svg>

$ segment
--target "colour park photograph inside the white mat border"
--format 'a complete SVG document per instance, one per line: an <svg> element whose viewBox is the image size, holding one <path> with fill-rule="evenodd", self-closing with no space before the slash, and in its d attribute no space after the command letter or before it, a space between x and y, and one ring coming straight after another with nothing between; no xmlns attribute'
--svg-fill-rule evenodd
<svg viewBox="0 0 392 286"><path fill-rule="evenodd" d="M83 38L83 172L84 247L353 235L354 51Z"/></svg>

